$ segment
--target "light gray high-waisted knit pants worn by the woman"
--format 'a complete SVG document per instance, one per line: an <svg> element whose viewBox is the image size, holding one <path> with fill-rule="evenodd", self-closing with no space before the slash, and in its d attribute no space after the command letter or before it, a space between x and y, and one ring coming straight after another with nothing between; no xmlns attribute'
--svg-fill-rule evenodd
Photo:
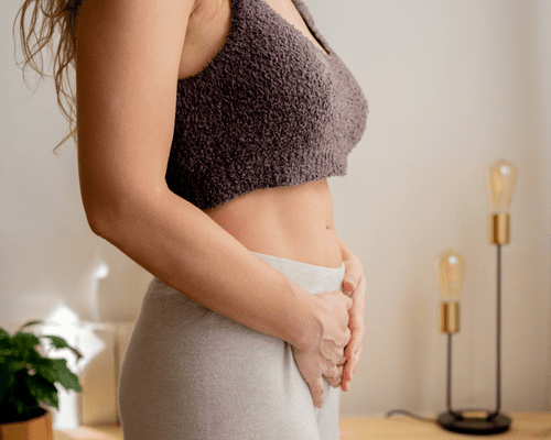
<svg viewBox="0 0 551 440"><path fill-rule="evenodd" d="M344 264L255 254L312 294L342 289ZM339 388L324 384L317 409L285 341L154 278L119 376L125 440L338 440Z"/></svg>

